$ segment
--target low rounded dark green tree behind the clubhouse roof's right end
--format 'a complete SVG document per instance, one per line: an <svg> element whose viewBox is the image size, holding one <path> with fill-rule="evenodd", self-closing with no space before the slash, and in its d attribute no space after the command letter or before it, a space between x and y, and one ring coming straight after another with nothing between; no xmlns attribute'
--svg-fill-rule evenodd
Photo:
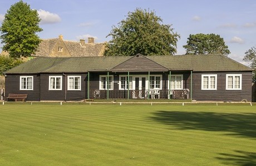
<svg viewBox="0 0 256 166"><path fill-rule="evenodd" d="M190 34L186 45L186 54L223 54L228 55L230 51L224 39L216 34Z"/></svg>

